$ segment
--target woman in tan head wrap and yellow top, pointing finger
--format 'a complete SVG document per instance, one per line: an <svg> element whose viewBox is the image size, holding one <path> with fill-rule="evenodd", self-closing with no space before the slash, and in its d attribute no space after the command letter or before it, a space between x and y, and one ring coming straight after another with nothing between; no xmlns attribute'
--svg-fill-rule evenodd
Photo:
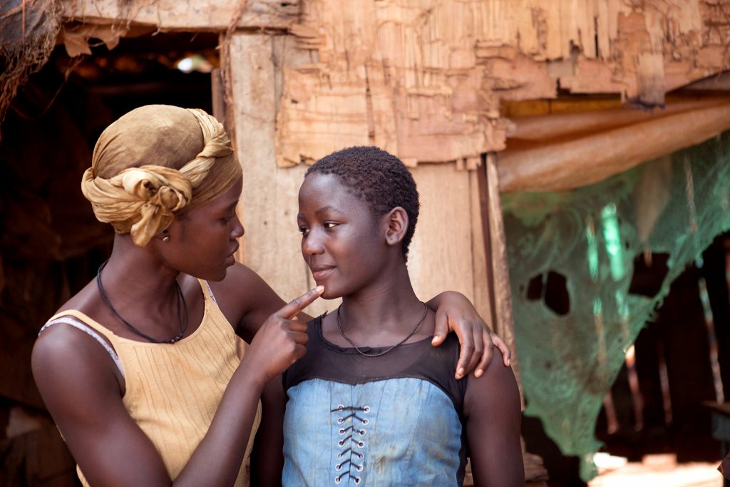
<svg viewBox="0 0 730 487"><path fill-rule="evenodd" d="M141 107L99 137L82 191L116 231L112 256L32 356L84 485L245 482L261 394L304 354L301 310L323 288L285 304L235 263L241 188L223 126L201 110ZM429 304L442 308L434 343L456 323L460 374L485 369L492 339L471 304L456 294ZM250 342L242 359L237 335Z"/></svg>

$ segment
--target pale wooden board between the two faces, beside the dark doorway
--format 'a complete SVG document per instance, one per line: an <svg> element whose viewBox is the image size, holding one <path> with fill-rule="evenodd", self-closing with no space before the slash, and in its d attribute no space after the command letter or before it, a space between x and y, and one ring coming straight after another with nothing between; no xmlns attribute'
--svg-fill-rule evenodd
<svg viewBox="0 0 730 487"><path fill-rule="evenodd" d="M296 226L297 194L307 168L284 170L276 164L277 65L285 62L286 42L285 36L234 34L231 78L234 142L243 167L239 215L246 230L238 257L291 300L315 284L301 258ZM334 306L319 300L307 312L316 315Z"/></svg>

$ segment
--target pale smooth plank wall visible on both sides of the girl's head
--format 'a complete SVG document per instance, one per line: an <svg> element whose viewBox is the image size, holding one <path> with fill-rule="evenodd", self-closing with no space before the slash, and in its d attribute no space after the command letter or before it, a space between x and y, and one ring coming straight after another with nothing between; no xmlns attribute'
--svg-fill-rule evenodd
<svg viewBox="0 0 730 487"><path fill-rule="evenodd" d="M295 40L235 34L231 42L235 143L245 175L240 211L246 236L239 257L284 299L314 285L296 229L296 197L307 166L276 164L277 76L282 66L310 55ZM409 259L416 293L425 300L447 289L460 291L490 315L475 172L423 164L413 175L422 205ZM334 307L337 302L320 300L308 311Z"/></svg>

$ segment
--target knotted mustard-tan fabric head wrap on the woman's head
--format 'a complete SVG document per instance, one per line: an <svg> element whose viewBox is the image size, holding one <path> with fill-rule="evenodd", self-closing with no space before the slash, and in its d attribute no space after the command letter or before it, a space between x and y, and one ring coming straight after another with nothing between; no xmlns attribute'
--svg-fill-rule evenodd
<svg viewBox="0 0 730 487"><path fill-rule="evenodd" d="M240 176L218 120L203 110L147 105L102 132L81 191L99 221L143 247L177 212L210 202Z"/></svg>

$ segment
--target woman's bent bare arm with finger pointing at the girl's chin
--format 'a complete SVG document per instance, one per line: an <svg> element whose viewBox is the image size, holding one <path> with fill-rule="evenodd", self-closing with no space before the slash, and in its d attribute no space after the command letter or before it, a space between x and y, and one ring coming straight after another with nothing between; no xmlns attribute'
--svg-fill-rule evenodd
<svg viewBox="0 0 730 487"><path fill-rule="evenodd" d="M175 486L234 483L264 385L304 355L306 325L286 318L320 294L310 291L261 326ZM39 337L32 356L39 391L91 485L169 486L161 457L123 405L113 367L101 346L61 325Z"/></svg>

